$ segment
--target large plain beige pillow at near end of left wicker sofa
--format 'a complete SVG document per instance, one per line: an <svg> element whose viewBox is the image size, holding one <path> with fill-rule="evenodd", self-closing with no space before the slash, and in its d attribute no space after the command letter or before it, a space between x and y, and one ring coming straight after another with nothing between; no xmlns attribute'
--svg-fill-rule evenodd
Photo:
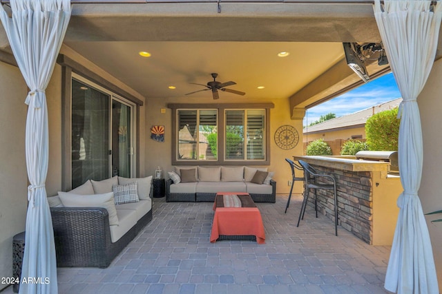
<svg viewBox="0 0 442 294"><path fill-rule="evenodd" d="M117 209L113 199L113 192L93 195L77 195L68 192L58 192L64 207L103 207L108 211L109 224L119 224Z"/></svg>

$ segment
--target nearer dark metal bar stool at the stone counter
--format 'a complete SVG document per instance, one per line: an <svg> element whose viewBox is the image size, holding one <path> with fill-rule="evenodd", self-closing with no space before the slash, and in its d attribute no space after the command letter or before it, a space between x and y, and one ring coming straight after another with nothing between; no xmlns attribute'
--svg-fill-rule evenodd
<svg viewBox="0 0 442 294"><path fill-rule="evenodd" d="M316 218L318 218L318 195L316 191L318 189L325 190L333 190L334 195L334 231L335 235L338 235L338 197L336 194L336 180L333 176L329 174L318 174L318 172L311 167L304 160L299 160L299 164L304 169L304 177L305 177L305 190L304 190L304 200L302 200L301 211L299 213L298 224L296 227L299 227L300 220L304 219L305 208L307 207L307 200L309 199L310 189L314 189L315 191L315 211ZM332 184L319 184L318 178L326 178L329 182L333 182ZM311 180L314 179L314 180Z"/></svg>

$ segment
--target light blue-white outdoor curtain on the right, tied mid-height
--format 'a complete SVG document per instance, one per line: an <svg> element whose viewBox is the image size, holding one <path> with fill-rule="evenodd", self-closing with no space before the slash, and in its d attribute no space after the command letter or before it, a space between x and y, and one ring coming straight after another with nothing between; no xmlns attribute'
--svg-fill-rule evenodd
<svg viewBox="0 0 442 294"><path fill-rule="evenodd" d="M399 115L399 171L403 193L385 288L397 293L439 293L436 268L418 190L421 185L423 143L416 98L436 56L442 5L430 1L374 2L374 15L392 72L402 94Z"/></svg>

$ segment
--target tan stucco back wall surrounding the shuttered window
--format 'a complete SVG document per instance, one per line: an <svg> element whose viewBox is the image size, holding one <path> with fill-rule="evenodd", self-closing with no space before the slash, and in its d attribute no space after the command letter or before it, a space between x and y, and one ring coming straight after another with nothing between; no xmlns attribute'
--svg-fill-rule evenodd
<svg viewBox="0 0 442 294"><path fill-rule="evenodd" d="M275 107L271 109L271 120L270 120L270 148L271 148L271 160L268 166L269 171L274 171L276 180L276 193L282 194L289 193L290 187L288 181L291 180L291 171L289 164L285 161L285 158L293 159L294 155L302 155L302 121L301 120L291 120L289 111L289 101L287 99L271 99L268 100L253 100L253 99L228 99L220 98L222 101L215 101L216 103L273 103ZM211 98L186 98L186 103L213 103ZM173 98L151 98L148 99L146 107L146 132L150 132L150 128L153 125L164 125L164 143L151 140L147 137L146 139L146 161L145 161L145 172L146 175L153 175L157 166L162 167L163 175L167 177L167 171L172 170L171 165L171 140L173 134L171 134L171 123L172 123L172 110L167 108L168 103L183 103L182 99ZM195 106L198 107L198 106ZM166 109L166 113L162 114L161 109ZM300 133L298 145L291 150L282 150L276 146L273 140L273 135L276 129L281 125L293 125L298 129ZM149 135L150 136L150 135ZM301 176L301 175L298 175ZM302 184L300 182L296 183L295 192L300 193L302 189Z"/></svg>

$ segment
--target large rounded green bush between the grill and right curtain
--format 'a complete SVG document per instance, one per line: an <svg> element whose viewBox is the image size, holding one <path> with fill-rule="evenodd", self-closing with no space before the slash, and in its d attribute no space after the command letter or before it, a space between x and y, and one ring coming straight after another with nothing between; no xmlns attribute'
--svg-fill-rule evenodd
<svg viewBox="0 0 442 294"><path fill-rule="evenodd" d="M365 134L367 144L373 151L397 151L399 124L398 108L378 112L367 119Z"/></svg>

